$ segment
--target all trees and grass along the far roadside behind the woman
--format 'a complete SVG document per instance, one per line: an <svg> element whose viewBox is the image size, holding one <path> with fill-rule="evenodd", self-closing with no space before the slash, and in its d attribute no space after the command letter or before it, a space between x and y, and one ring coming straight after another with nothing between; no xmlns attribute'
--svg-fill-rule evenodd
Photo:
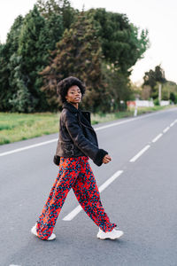
<svg viewBox="0 0 177 266"><path fill-rule="evenodd" d="M126 14L92 8L81 12L70 0L36 0L0 42L0 145L58 132L62 103L57 83L73 75L86 84L81 108L92 123L134 116L127 101L154 102L138 115L177 104L177 84L159 65L130 81L132 67L150 47L149 32ZM172 107L172 106L169 106Z"/></svg>

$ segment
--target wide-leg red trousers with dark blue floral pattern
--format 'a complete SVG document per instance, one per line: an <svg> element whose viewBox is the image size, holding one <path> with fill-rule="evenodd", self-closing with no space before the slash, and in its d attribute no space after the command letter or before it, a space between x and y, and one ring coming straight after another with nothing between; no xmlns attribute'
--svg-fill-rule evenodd
<svg viewBox="0 0 177 266"><path fill-rule="evenodd" d="M49 199L42 209L36 231L40 239L48 239L57 222L59 212L64 205L67 193L73 192L81 207L103 231L112 231L117 225L111 223L104 211L96 179L89 166L89 157L61 157L58 177L50 191Z"/></svg>

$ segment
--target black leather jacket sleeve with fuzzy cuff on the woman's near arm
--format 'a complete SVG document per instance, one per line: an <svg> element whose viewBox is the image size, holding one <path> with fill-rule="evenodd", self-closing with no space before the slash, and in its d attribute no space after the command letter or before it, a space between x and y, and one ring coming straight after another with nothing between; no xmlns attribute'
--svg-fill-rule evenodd
<svg viewBox="0 0 177 266"><path fill-rule="evenodd" d="M83 131L78 123L77 117L71 113L65 113L65 127L76 145L82 153L89 156L97 166L101 166L105 154L108 154L103 149L99 149L96 145L92 144L87 137L84 136Z"/></svg>

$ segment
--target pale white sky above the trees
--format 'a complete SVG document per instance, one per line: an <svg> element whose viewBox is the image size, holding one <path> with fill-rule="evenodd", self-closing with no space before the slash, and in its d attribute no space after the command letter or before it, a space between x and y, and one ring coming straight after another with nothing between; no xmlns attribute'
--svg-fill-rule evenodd
<svg viewBox="0 0 177 266"><path fill-rule="evenodd" d="M5 42L15 18L25 15L36 0L1 0L0 41ZM146 71L159 64L165 78L177 82L177 1L176 0L71 0L74 8L105 8L110 12L127 14L130 22L140 29L149 30L150 48L133 66L132 82L140 84Z"/></svg>

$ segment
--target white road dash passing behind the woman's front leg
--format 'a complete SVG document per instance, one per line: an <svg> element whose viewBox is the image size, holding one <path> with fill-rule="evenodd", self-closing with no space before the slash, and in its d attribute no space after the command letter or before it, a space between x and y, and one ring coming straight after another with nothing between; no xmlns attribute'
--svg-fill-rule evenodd
<svg viewBox="0 0 177 266"><path fill-rule="evenodd" d="M113 176L111 176L108 180L106 180L106 181L104 182L104 184L102 184L102 185L98 188L99 192L100 192L100 193L103 192L104 189L105 189L106 187L108 187L108 185L112 184L112 182L113 182L116 178L118 178L122 173L123 173L123 171L122 171L122 170L119 170L119 171L117 171L115 174L113 174ZM63 220L64 220L64 221L71 221L71 220L73 220L73 218L74 218L76 215L78 215L78 214L81 212L81 210L82 210L81 205L75 207L75 208L73 209L73 211L71 211L71 213L69 213L68 215L66 215L66 216L63 218Z"/></svg>

